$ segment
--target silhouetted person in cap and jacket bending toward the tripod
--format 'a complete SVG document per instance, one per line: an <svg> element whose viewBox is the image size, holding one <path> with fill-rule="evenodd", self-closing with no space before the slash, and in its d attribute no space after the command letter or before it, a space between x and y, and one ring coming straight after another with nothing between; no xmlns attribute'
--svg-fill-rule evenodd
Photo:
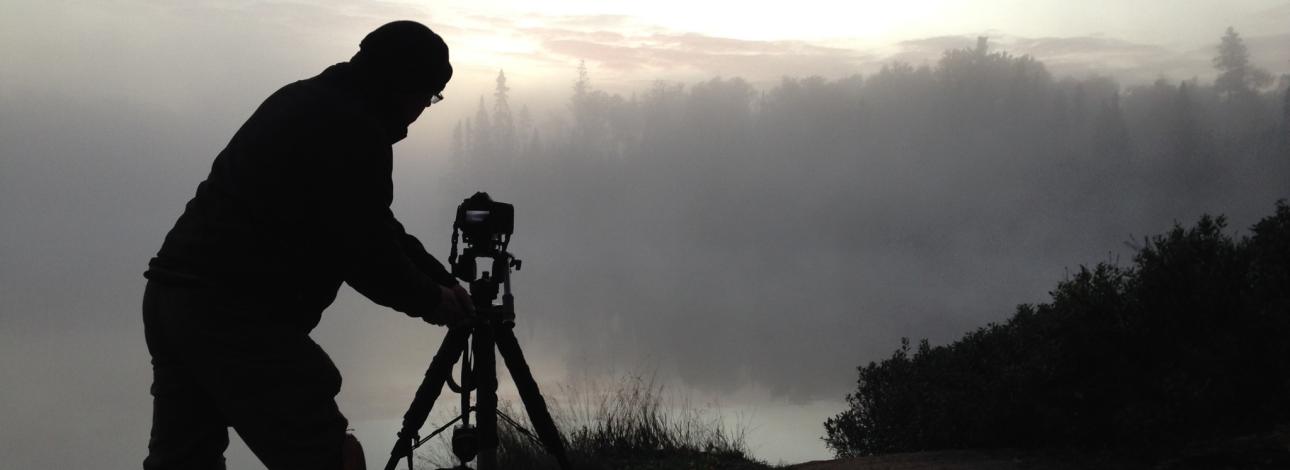
<svg viewBox="0 0 1290 470"><path fill-rule="evenodd" d="M341 374L308 337L342 281L433 324L468 315L390 212L391 145L452 74L439 35L384 25L350 62L268 97L219 152L144 274L144 469L222 469L228 426L270 469L355 457Z"/></svg>

